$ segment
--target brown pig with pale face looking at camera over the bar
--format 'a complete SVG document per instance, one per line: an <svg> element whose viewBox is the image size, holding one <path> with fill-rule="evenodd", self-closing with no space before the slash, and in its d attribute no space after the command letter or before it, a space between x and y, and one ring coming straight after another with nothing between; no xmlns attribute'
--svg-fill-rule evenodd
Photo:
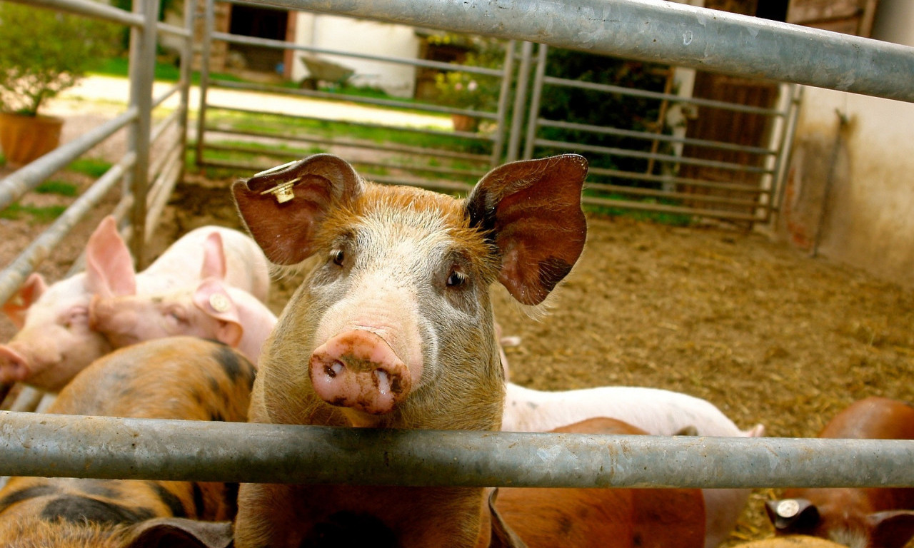
<svg viewBox="0 0 914 548"><path fill-rule="evenodd" d="M250 420L499 429L489 286L537 305L569 273L586 238L586 174L574 154L508 163L457 199L368 183L318 154L236 183L273 263L318 258L264 344ZM243 484L235 545L321 546L338 530L347 542L485 546L483 511L475 488Z"/></svg>

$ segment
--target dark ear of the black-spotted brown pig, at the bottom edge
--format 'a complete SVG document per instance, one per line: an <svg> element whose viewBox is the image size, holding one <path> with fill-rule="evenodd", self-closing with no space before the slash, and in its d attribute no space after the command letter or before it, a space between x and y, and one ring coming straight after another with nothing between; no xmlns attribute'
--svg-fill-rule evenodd
<svg viewBox="0 0 914 548"><path fill-rule="evenodd" d="M231 548L231 522L157 518L131 527L124 548Z"/></svg>

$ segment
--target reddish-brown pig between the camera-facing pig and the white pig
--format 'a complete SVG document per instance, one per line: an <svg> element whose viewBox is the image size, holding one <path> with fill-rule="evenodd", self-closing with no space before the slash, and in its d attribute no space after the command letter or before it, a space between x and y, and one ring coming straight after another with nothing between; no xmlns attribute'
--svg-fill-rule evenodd
<svg viewBox="0 0 914 548"><path fill-rule="evenodd" d="M593 417L553 432L643 435L623 421ZM696 489L502 488L495 509L530 548L676 548L705 543Z"/></svg>

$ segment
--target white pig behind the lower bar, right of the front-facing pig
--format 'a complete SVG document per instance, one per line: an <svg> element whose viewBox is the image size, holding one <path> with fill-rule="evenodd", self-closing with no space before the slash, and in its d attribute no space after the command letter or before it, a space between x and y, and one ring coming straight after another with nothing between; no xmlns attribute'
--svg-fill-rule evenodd
<svg viewBox="0 0 914 548"><path fill-rule="evenodd" d="M760 437L764 427L740 430L710 402L678 392L636 386L600 386L543 392L507 383L502 429L542 432L593 416L609 416L654 436L675 436L694 427L696 436ZM749 500L748 489L702 490L706 506L705 548L724 542Z"/></svg>

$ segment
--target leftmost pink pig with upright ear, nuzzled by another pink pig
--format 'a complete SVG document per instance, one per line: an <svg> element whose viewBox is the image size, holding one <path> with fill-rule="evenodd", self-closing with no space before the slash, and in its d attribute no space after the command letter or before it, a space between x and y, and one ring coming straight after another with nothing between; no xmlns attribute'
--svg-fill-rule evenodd
<svg viewBox="0 0 914 548"><path fill-rule="evenodd" d="M89 326L93 294L156 293L216 276L263 300L270 287L268 266L250 237L229 228L200 227L134 274L116 221L105 217L86 245L84 272L50 286L33 273L5 303L3 309L19 332L0 344L0 383L25 382L58 392L92 360L111 352L111 344Z"/></svg>

